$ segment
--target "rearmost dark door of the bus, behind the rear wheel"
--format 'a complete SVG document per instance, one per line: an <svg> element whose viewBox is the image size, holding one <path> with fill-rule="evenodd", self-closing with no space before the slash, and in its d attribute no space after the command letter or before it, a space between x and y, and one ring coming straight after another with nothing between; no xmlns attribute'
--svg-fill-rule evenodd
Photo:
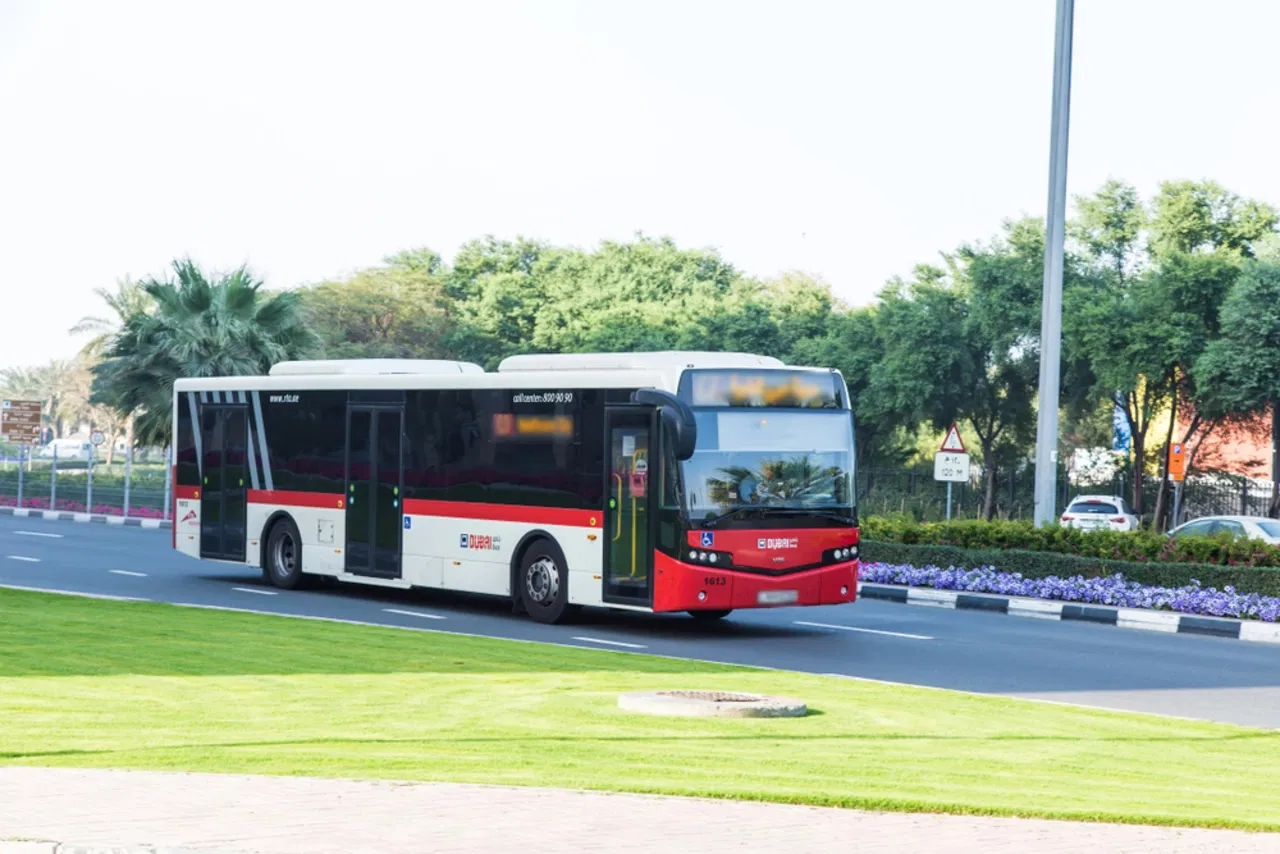
<svg viewBox="0 0 1280 854"><path fill-rule="evenodd" d="M244 560L248 511L246 448L248 419L243 406L200 407L204 451L200 479L200 557Z"/></svg>

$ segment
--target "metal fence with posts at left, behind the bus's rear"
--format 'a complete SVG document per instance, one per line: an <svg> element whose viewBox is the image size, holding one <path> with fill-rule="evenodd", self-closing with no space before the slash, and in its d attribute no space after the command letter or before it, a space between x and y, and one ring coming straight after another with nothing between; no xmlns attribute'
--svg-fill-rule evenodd
<svg viewBox="0 0 1280 854"><path fill-rule="evenodd" d="M0 507L59 510L101 516L169 519L173 494L168 451L58 457L26 446L0 447Z"/></svg>

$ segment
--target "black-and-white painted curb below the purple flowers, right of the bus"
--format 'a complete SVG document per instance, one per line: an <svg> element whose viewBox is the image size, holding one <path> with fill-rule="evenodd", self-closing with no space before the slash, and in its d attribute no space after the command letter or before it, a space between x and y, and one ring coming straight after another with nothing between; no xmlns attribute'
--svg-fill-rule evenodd
<svg viewBox="0 0 1280 854"><path fill-rule="evenodd" d="M1033 599L1029 597L1005 597L991 593L936 590L933 588L911 588L901 584L872 584L867 581L859 583L858 595L864 599L881 599L883 602L918 604L931 608L995 611L1011 617L1030 617L1033 620L1076 620L1117 626L1120 629L1138 629L1140 631L1210 635L1213 638L1229 638L1231 640L1280 644L1280 624L1260 622L1257 620L1201 617L1190 613L1176 613L1174 611L1120 608L1105 604L1062 602L1060 599Z"/></svg>

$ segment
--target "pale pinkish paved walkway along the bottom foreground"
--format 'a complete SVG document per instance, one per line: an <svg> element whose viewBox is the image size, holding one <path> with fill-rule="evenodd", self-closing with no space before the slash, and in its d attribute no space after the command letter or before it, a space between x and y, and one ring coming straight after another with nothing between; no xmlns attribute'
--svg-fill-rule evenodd
<svg viewBox="0 0 1280 854"><path fill-rule="evenodd" d="M1280 834L910 816L554 789L0 768L0 842L276 854L1280 851ZM67 850L65 848L63 850Z"/></svg>

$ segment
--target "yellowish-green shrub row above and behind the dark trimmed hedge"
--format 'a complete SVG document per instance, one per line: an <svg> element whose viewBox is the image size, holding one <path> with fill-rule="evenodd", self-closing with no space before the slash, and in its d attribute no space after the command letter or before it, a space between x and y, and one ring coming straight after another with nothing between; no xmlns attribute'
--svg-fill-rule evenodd
<svg viewBox="0 0 1280 854"><path fill-rule="evenodd" d="M1155 531L1082 531L1036 528L1032 522L916 522L897 516L860 521L863 536L878 543L951 545L963 549L1019 549L1052 552L1132 563L1212 563L1219 566L1280 567L1280 548L1228 536L1172 539Z"/></svg>

